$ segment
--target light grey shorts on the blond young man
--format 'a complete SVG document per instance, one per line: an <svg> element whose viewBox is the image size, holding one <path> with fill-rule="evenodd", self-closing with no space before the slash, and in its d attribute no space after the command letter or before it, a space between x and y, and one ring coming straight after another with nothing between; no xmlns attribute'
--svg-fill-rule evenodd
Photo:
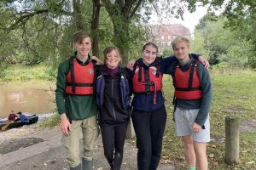
<svg viewBox="0 0 256 170"><path fill-rule="evenodd" d="M176 108L174 113L176 135L177 136L189 136L192 135L192 139L195 142L207 143L210 141L210 122L209 116L205 122L205 129L201 129L198 133L195 133L192 126L195 122L199 109L187 110Z"/></svg>

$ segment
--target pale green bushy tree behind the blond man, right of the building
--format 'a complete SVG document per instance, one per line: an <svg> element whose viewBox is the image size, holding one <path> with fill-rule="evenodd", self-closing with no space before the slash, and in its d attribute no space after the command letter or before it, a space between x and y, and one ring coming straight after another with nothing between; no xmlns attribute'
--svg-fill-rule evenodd
<svg viewBox="0 0 256 170"><path fill-rule="evenodd" d="M211 14L206 14L196 26L192 49L209 55L212 65L224 61L230 66L246 66L253 57L253 43L242 38L241 31L225 27L227 21L223 15L212 20Z"/></svg>

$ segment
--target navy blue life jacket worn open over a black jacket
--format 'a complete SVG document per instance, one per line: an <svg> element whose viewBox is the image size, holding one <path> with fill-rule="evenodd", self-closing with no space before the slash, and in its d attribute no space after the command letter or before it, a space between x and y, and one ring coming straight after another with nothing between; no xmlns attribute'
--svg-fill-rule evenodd
<svg viewBox="0 0 256 170"><path fill-rule="evenodd" d="M125 74L121 73L121 77L119 80L119 89L120 89L120 98L122 107L125 109L130 106L131 98L130 98L130 87ZM104 91L105 91L105 78L100 75L96 79L96 105L102 108L104 103Z"/></svg>

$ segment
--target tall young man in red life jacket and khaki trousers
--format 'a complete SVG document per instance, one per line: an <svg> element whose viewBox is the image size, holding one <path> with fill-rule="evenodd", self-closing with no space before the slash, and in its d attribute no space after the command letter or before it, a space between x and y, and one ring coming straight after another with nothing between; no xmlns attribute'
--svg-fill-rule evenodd
<svg viewBox="0 0 256 170"><path fill-rule="evenodd" d="M93 94L95 65L90 60L91 39L84 31L73 35L74 56L58 68L55 100L61 116L62 144L71 170L92 170L93 144L98 136L96 100ZM83 136L82 163L80 136Z"/></svg>

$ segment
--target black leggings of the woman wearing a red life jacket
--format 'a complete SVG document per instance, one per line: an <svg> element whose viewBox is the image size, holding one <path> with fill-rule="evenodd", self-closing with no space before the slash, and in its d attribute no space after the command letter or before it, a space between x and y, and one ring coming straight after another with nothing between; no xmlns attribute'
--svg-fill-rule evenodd
<svg viewBox="0 0 256 170"><path fill-rule="evenodd" d="M162 139L166 127L166 107L156 111L132 111L137 138L138 170L155 170L160 162Z"/></svg>

